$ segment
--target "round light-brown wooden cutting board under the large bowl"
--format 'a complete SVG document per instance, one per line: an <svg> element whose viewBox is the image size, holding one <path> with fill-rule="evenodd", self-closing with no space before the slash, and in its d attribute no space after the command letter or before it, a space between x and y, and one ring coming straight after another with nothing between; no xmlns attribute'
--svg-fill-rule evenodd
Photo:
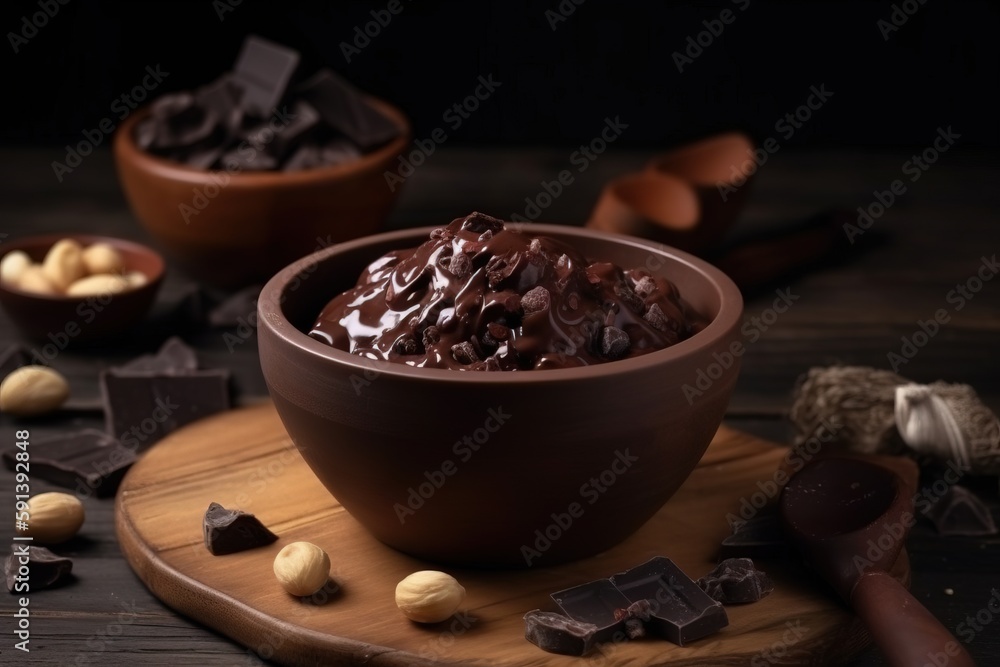
<svg viewBox="0 0 1000 667"><path fill-rule="evenodd" d="M726 514L751 499L758 483L769 486L787 452L723 427L670 502L615 549L544 569L447 568L468 596L457 616L434 626L406 620L394 591L410 572L441 568L383 545L354 521L299 457L270 404L202 420L153 447L121 485L116 529L128 562L158 598L281 664L837 664L864 648L866 633L818 580L784 559L758 563L774 580L771 595L727 607L729 626L691 646L659 639L607 645L592 663L546 653L524 639L524 613L556 610L548 597L553 591L656 555L692 578L707 573L729 534ZM213 501L256 514L280 539L212 556L202 541L202 517ZM484 516L495 511L484 500ZM330 554L339 590L312 602L282 591L271 564L282 546L298 540ZM905 578L908 563L898 566Z"/></svg>

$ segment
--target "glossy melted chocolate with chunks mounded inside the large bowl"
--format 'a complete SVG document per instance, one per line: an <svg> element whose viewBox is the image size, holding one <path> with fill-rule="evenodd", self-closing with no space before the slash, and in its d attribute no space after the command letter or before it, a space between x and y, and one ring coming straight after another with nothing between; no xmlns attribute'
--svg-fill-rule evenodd
<svg viewBox="0 0 1000 667"><path fill-rule="evenodd" d="M635 357L702 326L662 277L472 213L371 263L309 335L411 366L528 370Z"/></svg>

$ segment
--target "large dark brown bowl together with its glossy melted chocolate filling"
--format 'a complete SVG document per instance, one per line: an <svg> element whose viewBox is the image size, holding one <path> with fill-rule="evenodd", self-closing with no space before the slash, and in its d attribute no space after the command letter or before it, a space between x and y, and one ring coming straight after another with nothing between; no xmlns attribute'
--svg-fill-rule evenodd
<svg viewBox="0 0 1000 667"><path fill-rule="evenodd" d="M258 308L264 377L317 477L384 543L463 566L621 542L694 469L738 374L742 300L717 269L478 213L309 255Z"/></svg>

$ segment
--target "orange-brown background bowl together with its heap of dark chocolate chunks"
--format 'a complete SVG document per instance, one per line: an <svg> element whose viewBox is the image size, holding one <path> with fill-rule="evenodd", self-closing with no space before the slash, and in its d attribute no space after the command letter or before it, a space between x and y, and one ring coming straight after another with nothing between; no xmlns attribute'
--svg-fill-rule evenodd
<svg viewBox="0 0 1000 667"><path fill-rule="evenodd" d="M330 70L293 80L298 60L251 37L232 72L155 100L115 134L133 213L200 280L266 280L378 231L399 195L385 172L410 141L406 116Z"/></svg>

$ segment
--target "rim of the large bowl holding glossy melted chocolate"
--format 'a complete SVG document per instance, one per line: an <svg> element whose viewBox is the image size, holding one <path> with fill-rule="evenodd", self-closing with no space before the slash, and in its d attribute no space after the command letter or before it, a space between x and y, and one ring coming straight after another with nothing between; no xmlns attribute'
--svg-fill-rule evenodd
<svg viewBox="0 0 1000 667"><path fill-rule="evenodd" d="M316 357L326 362L336 363L349 370L359 373L371 373L375 371L381 377L387 375L400 379L425 381L425 382L450 382L458 384L522 384L522 383L561 383L567 381L580 381L582 379L605 378L614 375L627 375L630 372L648 370L654 366L660 366L677 359L692 355L698 351L711 348L726 334L727 331L737 328L743 317L743 296L736 284L720 269L712 266L703 259L694 255L677 250L668 245L656 243L646 239L640 239L623 234L614 234L598 230L586 229L570 225L553 225L542 223L514 224L506 223L515 229L531 229L539 235L562 235L570 237L588 238L597 241L611 242L626 245L637 249L654 251L661 256L685 265L693 270L718 293L719 312L711 322L700 332L690 338L675 343L670 347L655 352L621 359L601 364L592 364L564 369L546 369L540 371L514 371L514 372L456 372L449 368L419 368L401 364L398 362L370 359L360 355L351 354L344 350L331 347L326 343L310 338L308 334L300 331L285 317L281 308L284 301L283 294L292 279L301 275L307 269L320 262L329 261L331 258L352 252L365 246L396 243L400 241L413 241L421 243L427 238L431 230L440 226L417 227L370 236L361 237L344 243L324 248L310 255L302 257L284 269L276 273L265 283L260 292L257 302L258 327L264 327L274 338L282 341L284 345L291 346L300 354ZM372 261L376 258L372 257ZM302 281L300 280L300 284ZM333 298L335 295L331 295ZM683 296L683 295L682 295Z"/></svg>

